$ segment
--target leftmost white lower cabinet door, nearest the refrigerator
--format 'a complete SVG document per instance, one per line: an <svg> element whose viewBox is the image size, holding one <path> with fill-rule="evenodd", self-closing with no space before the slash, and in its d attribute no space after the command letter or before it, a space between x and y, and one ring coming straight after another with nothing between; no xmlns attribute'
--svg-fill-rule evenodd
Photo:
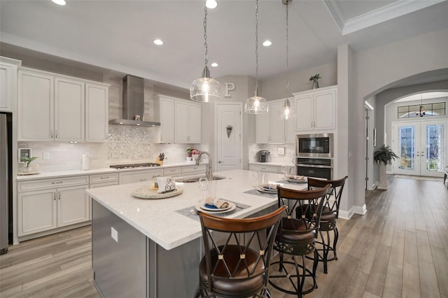
<svg viewBox="0 0 448 298"><path fill-rule="evenodd" d="M56 190L22 192L18 196L18 236L57 227Z"/></svg>

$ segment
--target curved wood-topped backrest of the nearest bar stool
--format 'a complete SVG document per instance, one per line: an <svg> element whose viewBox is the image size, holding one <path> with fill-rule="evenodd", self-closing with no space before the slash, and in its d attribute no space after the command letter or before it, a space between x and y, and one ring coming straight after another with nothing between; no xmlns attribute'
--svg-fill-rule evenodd
<svg viewBox="0 0 448 298"><path fill-rule="evenodd" d="M283 206L267 215L243 219L200 213L209 292L216 281L238 282L263 274L267 286L272 245L284 210Z"/></svg>

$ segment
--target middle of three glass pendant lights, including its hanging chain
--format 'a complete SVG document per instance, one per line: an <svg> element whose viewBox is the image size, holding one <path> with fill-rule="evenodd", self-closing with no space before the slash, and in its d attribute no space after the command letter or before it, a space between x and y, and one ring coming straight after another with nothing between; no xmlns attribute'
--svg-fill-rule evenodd
<svg viewBox="0 0 448 298"><path fill-rule="evenodd" d="M255 94L246 100L244 112L248 114L265 114L269 111L269 105L265 98L260 97L258 87L258 0L255 2Z"/></svg>

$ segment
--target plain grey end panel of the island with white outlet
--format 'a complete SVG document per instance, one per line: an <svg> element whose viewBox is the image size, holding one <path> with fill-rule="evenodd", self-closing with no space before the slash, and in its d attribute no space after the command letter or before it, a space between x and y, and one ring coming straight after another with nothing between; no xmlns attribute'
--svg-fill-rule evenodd
<svg viewBox="0 0 448 298"><path fill-rule="evenodd" d="M147 297L146 255L146 236L92 199L92 268L102 297Z"/></svg>

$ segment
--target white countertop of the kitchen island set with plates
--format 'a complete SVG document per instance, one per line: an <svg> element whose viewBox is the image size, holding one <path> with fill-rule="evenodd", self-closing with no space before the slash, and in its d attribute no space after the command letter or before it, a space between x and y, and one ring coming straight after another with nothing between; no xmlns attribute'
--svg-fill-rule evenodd
<svg viewBox="0 0 448 298"><path fill-rule="evenodd" d="M227 177L217 180L218 197L248 206L244 209L237 208L236 212L228 215L222 213L223 216L246 218L277 204L276 194L253 191L258 184L253 178L253 171L232 170L217 172L214 175ZM283 175L267 173L267 178L269 182L276 182L282 180ZM200 221L182 215L179 211L185 208L195 211L195 205L204 200L204 192L197 187L197 183L178 184L183 187L183 193L167 199L138 199L132 196L133 190L148 183L92 188L86 192L162 248L170 250L202 236ZM307 185L288 184L287 187L302 190Z"/></svg>

